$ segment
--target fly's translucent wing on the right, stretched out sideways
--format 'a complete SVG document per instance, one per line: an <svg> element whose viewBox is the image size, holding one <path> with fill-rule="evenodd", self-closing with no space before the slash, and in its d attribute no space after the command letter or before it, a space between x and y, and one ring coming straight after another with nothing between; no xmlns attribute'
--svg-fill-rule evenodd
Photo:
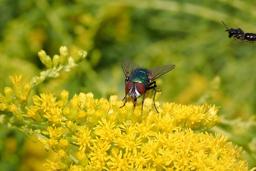
<svg viewBox="0 0 256 171"><path fill-rule="evenodd" d="M162 65L162 66L155 66L152 68L147 68L146 70L148 71L148 80L152 82L156 78L164 75L165 73L173 70L175 67L174 64L171 65Z"/></svg>

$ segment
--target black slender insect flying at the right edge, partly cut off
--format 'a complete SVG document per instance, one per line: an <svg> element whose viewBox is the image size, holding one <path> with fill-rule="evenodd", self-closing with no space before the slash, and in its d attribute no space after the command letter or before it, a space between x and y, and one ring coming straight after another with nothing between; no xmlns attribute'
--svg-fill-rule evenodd
<svg viewBox="0 0 256 171"><path fill-rule="evenodd" d="M250 43L254 43L256 41L256 34L255 33L244 33L244 31L241 28L230 28L226 26L226 24L222 21L224 26L227 28L226 32L229 33L228 37L231 38L232 36L234 38L237 38L241 41L246 41Z"/></svg>

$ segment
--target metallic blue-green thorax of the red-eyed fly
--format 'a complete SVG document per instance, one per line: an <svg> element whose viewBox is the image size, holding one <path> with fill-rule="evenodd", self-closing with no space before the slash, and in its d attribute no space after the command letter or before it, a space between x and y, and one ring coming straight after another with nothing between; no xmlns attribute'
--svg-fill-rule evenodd
<svg viewBox="0 0 256 171"><path fill-rule="evenodd" d="M135 70L135 72L133 72L129 78L129 82L141 83L142 85L144 85L144 87L147 87L147 80L148 74L147 70L144 68L139 68Z"/></svg>

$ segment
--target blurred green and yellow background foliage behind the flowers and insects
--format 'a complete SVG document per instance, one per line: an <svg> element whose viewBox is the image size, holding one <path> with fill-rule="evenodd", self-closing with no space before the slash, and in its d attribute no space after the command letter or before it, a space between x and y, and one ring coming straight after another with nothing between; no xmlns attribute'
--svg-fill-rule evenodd
<svg viewBox="0 0 256 171"><path fill-rule="evenodd" d="M208 131L243 146L251 169L256 166L256 44L228 38L221 21L256 33L255 7L252 0L0 0L0 93L10 86L9 75L22 74L28 82L45 69L37 56L41 49L50 56L59 54L60 46L71 56L88 52L78 68L33 90L57 97L66 89L70 97L91 91L95 98L116 94L121 100L122 60L144 67L176 64L156 80L163 92L158 101L221 106L220 123ZM0 136L0 168L48 169L42 166L48 155L42 144L4 126Z"/></svg>

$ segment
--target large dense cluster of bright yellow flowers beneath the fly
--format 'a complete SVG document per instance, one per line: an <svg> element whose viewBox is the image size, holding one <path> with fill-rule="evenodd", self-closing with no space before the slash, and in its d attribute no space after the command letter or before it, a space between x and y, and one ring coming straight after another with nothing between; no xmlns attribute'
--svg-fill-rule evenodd
<svg viewBox="0 0 256 171"><path fill-rule="evenodd" d="M50 170L248 170L242 148L227 137L194 133L218 123L216 106L164 103L157 113L146 98L142 113L132 102L120 108L116 95L108 101L80 93L70 103L66 90L59 101L52 94L40 96L26 108L39 116L26 117L48 125L39 139L60 157L47 160Z"/></svg>

